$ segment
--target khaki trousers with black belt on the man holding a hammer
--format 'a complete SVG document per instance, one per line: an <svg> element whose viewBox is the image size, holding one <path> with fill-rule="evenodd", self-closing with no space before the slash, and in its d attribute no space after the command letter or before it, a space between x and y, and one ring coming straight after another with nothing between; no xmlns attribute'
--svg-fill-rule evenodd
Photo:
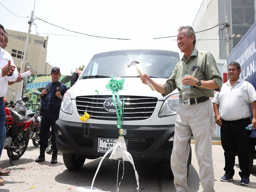
<svg viewBox="0 0 256 192"><path fill-rule="evenodd" d="M187 163L188 140L193 133L195 153L199 165L199 176L204 192L214 192L212 164L212 131L214 126L212 103L207 100L193 105L182 105L177 109L175 134L171 156L171 168L177 192L188 192Z"/></svg>

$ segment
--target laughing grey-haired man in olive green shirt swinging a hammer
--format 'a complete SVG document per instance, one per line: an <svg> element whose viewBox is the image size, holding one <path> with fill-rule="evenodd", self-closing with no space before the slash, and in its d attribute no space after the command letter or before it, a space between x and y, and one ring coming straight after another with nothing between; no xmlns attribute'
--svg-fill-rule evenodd
<svg viewBox="0 0 256 192"><path fill-rule="evenodd" d="M188 140L193 133L201 185L205 192L214 192L212 131L215 120L209 97L214 96L213 90L220 90L222 78L212 54L195 48L196 36L192 27L183 26L178 29L177 44L184 56L164 85L154 82L146 74L140 75L140 79L144 84L148 79L156 91L163 96L177 88L180 91L180 99L182 99L182 84L190 85L190 104L182 105L180 102L176 113L171 156L174 185L179 192L189 191L187 186L187 163L190 151Z"/></svg>

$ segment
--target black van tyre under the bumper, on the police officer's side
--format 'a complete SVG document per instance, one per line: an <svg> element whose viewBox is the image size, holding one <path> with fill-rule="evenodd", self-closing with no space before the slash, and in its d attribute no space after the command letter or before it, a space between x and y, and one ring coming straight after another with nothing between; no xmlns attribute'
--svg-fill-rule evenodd
<svg viewBox="0 0 256 192"><path fill-rule="evenodd" d="M69 153L62 153L62 157L65 166L70 170L76 170L83 167L86 159L83 155L75 155Z"/></svg>

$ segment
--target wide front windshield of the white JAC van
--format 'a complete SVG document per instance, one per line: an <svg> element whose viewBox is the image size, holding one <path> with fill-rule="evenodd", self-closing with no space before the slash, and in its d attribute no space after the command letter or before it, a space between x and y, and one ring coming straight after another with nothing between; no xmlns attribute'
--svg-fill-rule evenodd
<svg viewBox="0 0 256 192"><path fill-rule="evenodd" d="M166 50L121 50L95 54L83 71L82 78L86 76L135 77L138 72L134 66L127 65L132 60L142 73L157 78L169 78L175 65L180 61L178 52Z"/></svg>

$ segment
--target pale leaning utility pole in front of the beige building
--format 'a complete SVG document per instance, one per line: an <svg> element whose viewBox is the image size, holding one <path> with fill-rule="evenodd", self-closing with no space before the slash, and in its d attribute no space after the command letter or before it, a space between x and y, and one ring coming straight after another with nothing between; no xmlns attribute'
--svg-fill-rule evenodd
<svg viewBox="0 0 256 192"><path fill-rule="evenodd" d="M27 34L27 39L26 39L26 44L25 44L25 49L24 49L24 55L23 55L23 59L22 59L22 62L21 62L21 66L20 66L20 74L24 73L25 68L26 68L26 66L24 67L24 64L26 64L29 36L30 36L30 30L31 30L31 24L32 24L33 16L34 16L34 11L31 12L30 20L28 21L28 34ZM23 90L23 81L20 81L19 86L18 86L17 97L16 97L17 100L20 99L20 97L22 97L22 90Z"/></svg>

